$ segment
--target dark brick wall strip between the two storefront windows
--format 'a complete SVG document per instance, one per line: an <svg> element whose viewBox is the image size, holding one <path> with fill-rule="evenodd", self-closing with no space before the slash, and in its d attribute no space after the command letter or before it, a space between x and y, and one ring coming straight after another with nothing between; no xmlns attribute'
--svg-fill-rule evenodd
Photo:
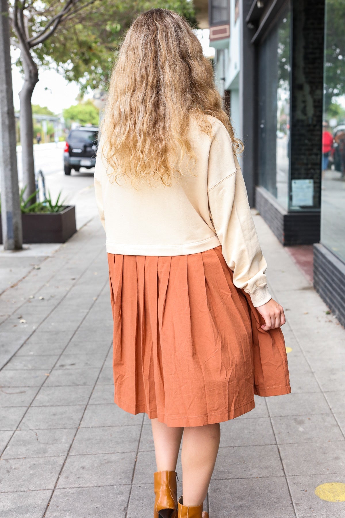
<svg viewBox="0 0 345 518"><path fill-rule="evenodd" d="M324 0L293 0L291 179L313 179L320 208Z"/></svg>

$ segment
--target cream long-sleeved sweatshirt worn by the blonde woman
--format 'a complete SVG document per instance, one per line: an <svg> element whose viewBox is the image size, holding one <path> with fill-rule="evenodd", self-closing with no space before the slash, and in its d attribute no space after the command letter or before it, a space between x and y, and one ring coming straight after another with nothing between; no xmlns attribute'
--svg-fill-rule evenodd
<svg viewBox="0 0 345 518"><path fill-rule="evenodd" d="M100 139L95 192L106 231L107 252L126 255L185 255L221 244L233 282L255 307L270 298L246 186L226 127L208 117L212 136L191 118L196 176L181 176L172 186L142 184L136 190L122 177L111 181Z"/></svg>

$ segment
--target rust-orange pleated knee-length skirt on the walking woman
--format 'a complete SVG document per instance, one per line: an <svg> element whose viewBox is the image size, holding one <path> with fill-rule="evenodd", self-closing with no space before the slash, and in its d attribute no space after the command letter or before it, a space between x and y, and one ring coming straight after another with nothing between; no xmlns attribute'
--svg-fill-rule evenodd
<svg viewBox="0 0 345 518"><path fill-rule="evenodd" d="M201 426L291 392L281 329L232 281L221 247L190 255L108 254L115 403L168 426Z"/></svg>

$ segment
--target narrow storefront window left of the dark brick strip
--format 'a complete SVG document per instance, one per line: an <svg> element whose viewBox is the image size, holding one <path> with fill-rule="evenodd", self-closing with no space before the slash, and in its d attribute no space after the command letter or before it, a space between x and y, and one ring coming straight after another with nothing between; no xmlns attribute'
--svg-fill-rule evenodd
<svg viewBox="0 0 345 518"><path fill-rule="evenodd" d="M259 49L259 183L288 209L290 6Z"/></svg>

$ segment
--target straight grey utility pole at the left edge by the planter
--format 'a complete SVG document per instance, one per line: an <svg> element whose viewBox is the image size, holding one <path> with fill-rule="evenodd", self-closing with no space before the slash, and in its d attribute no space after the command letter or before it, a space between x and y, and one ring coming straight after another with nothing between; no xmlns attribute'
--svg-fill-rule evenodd
<svg viewBox="0 0 345 518"><path fill-rule="evenodd" d="M0 77L0 174L3 243L5 250L20 250L23 243L23 233L19 204L7 0L0 0Z"/></svg>

